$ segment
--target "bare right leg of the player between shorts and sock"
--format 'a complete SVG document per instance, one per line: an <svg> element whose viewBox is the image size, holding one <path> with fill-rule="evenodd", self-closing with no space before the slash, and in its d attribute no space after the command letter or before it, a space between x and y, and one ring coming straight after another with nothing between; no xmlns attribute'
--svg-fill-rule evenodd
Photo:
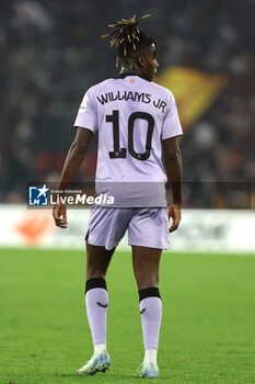
<svg viewBox="0 0 255 384"><path fill-rule="evenodd" d="M132 246L132 266L138 290L159 285L162 249Z"/></svg>

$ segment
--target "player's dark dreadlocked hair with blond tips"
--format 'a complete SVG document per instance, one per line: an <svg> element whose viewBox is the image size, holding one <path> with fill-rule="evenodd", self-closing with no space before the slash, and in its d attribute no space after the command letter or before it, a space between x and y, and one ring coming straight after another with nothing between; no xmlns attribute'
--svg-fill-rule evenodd
<svg viewBox="0 0 255 384"><path fill-rule="evenodd" d="M118 67L119 58L134 57L135 53L141 52L152 44L157 46L154 38L148 36L144 31L137 26L141 20L148 16L150 14L146 14L136 21L136 14L134 14L131 19L123 19L115 24L109 24L108 26L114 29L114 31L101 36L113 37L111 39L111 47L114 45L117 46L116 67Z"/></svg>

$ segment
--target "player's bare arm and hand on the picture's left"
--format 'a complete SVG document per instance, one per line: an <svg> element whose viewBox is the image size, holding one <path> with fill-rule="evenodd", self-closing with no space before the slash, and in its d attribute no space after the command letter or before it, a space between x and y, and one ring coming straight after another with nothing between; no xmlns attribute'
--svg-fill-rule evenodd
<svg viewBox="0 0 255 384"><path fill-rule="evenodd" d="M93 132L90 129L77 128L77 135L66 157L59 181L59 190L66 190L71 183L85 157L92 136ZM67 207L65 204L56 204L53 210L53 216L57 227L67 228Z"/></svg>

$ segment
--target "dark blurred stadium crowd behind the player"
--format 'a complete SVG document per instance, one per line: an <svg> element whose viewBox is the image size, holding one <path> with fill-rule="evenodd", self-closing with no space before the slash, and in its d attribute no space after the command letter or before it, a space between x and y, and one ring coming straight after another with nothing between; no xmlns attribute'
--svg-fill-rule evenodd
<svg viewBox="0 0 255 384"><path fill-rule="evenodd" d="M247 207L242 188L222 196L208 185L255 179L254 0L1 2L0 202L24 202L27 181L58 180L84 91L117 74L100 35L134 13L152 15L143 27L158 42L159 70L186 66L228 79L182 140L185 206ZM96 139L78 179L93 179L95 165Z"/></svg>

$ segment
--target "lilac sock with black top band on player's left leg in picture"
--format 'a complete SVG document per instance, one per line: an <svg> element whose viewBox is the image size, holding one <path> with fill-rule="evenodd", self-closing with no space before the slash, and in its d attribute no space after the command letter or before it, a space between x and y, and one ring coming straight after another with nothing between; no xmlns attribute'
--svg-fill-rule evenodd
<svg viewBox="0 0 255 384"><path fill-rule="evenodd" d="M85 306L93 345L106 345L108 293L104 279L90 279L86 281Z"/></svg>

